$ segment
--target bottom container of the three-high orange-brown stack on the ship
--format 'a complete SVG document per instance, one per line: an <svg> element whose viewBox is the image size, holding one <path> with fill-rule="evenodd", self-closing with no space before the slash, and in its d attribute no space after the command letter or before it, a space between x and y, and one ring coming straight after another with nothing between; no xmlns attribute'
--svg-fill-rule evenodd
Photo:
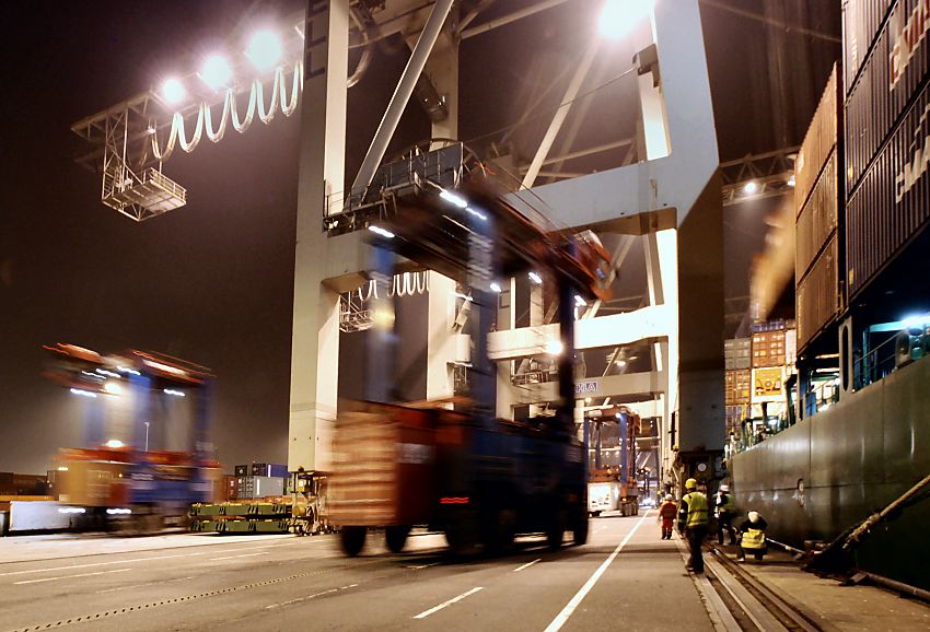
<svg viewBox="0 0 930 632"><path fill-rule="evenodd" d="M798 350L801 351L842 308L838 243L834 236L798 284Z"/></svg>

